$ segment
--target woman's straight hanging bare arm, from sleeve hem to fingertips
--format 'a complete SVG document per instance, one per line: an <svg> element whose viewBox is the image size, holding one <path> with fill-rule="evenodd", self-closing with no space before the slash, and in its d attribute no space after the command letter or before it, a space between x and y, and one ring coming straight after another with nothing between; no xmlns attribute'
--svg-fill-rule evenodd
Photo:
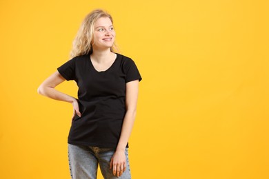
<svg viewBox="0 0 269 179"><path fill-rule="evenodd" d="M132 127L137 114L139 80L126 83L126 114L121 128L121 136L117 149L110 161L110 169L113 167L114 176L121 176L126 169L125 149L131 135Z"/></svg>

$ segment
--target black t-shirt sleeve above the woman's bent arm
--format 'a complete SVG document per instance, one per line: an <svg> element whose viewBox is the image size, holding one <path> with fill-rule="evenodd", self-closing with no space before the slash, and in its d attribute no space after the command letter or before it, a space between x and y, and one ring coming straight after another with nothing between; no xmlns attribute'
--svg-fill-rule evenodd
<svg viewBox="0 0 269 179"><path fill-rule="evenodd" d="M60 67L57 68L58 72L66 78L66 81L75 79L75 59L70 59L66 63L63 63Z"/></svg>

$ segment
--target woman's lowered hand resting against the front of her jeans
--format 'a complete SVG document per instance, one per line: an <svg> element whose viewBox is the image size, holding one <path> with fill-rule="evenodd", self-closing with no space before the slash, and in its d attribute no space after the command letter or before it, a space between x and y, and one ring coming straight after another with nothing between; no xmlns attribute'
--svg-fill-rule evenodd
<svg viewBox="0 0 269 179"><path fill-rule="evenodd" d="M126 170L126 156L123 151L115 151L111 161L110 161L110 169L113 169L113 175L119 177Z"/></svg>

